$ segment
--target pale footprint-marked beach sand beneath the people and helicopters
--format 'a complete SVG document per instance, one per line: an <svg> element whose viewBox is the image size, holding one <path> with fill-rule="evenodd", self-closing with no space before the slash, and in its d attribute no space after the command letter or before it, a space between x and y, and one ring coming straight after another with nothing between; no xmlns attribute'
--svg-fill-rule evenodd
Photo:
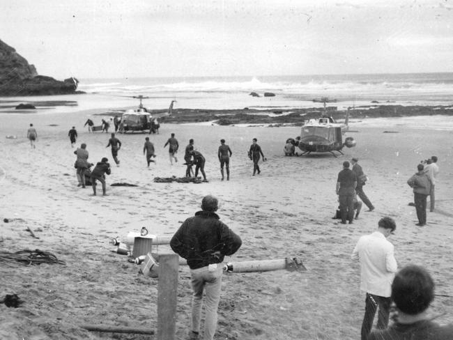
<svg viewBox="0 0 453 340"><path fill-rule="evenodd" d="M307 272L230 273L224 275L215 339L358 339L364 312L358 263L350 260L360 235L376 229L387 215L397 221L395 245L399 265L417 263L429 269L438 296L431 308L441 324L453 321L453 130L352 123L358 144L342 157L284 157L282 148L300 127L232 127L163 124L151 135L157 164L146 169L145 134L122 135L121 167L114 167L108 134L88 134L82 127L87 112L77 114L8 114L0 116L2 191L1 250L41 249L66 265L22 266L0 261L0 296L16 293L24 306L0 305L0 339L149 339L144 335L101 334L82 330L91 323L154 328L157 320L156 279L138 273L138 266L115 254L109 239L146 226L150 233L172 235L183 220L199 210L201 198L220 199L219 215L243 239L243 247L226 261L300 258ZM451 118L449 119L451 124ZM365 122L365 121L364 121ZM36 149L26 139L29 123L38 130ZM56 125L56 126L51 126ZM79 132L91 162L107 156L109 196L89 196L77 187L75 155L68 130ZM392 131L397 133L384 133ZM179 162L169 164L162 148L170 132L181 144ZM17 139L6 139L16 135ZM247 149L256 137L268 158L262 173L252 177ZM209 183L153 183L155 176L185 173L183 148L190 138L206 157ZM219 140L233 150L231 180L220 181ZM369 176L364 187L376 206L362 212L353 225L331 217L337 207L335 183L341 163L352 156ZM406 180L420 160L439 157L437 211L428 225L415 226L413 195ZM138 187L111 187L112 183ZM364 209L366 210L366 209ZM39 239L26 231L31 227ZM159 252L167 251L160 246ZM190 325L190 272L180 268L177 339ZM153 339L153 337L151 337Z"/></svg>

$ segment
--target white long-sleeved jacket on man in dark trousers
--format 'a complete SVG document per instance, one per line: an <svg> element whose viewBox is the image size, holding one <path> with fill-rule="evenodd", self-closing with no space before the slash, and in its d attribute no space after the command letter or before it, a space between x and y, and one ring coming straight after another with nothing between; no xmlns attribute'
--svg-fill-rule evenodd
<svg viewBox="0 0 453 340"><path fill-rule="evenodd" d="M360 290L390 297L398 266L394 258L394 247L383 233L375 231L362 236L355 245L351 258L360 260Z"/></svg>

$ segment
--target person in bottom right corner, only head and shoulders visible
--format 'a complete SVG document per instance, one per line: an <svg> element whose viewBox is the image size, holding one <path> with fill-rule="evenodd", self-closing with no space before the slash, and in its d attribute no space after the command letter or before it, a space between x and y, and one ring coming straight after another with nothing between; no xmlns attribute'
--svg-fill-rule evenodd
<svg viewBox="0 0 453 340"><path fill-rule="evenodd" d="M369 340L449 340L453 324L440 326L428 315L434 300L434 281L418 265L406 265L394 277L392 301L397 307L396 321L387 330L371 332Z"/></svg>

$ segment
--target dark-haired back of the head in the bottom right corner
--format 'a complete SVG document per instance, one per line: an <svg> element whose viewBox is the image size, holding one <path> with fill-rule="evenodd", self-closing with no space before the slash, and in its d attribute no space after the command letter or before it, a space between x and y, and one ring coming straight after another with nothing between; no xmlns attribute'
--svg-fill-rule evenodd
<svg viewBox="0 0 453 340"><path fill-rule="evenodd" d="M392 300L400 311L409 315L420 314L433 299L433 279L419 265L406 265L394 277Z"/></svg>

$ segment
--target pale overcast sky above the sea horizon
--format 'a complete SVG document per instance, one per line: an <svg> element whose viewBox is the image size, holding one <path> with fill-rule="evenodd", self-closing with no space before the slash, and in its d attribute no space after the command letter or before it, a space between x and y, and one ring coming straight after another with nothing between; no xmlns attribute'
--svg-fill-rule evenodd
<svg viewBox="0 0 453 340"><path fill-rule="evenodd" d="M57 79L453 71L453 0L0 0Z"/></svg>

